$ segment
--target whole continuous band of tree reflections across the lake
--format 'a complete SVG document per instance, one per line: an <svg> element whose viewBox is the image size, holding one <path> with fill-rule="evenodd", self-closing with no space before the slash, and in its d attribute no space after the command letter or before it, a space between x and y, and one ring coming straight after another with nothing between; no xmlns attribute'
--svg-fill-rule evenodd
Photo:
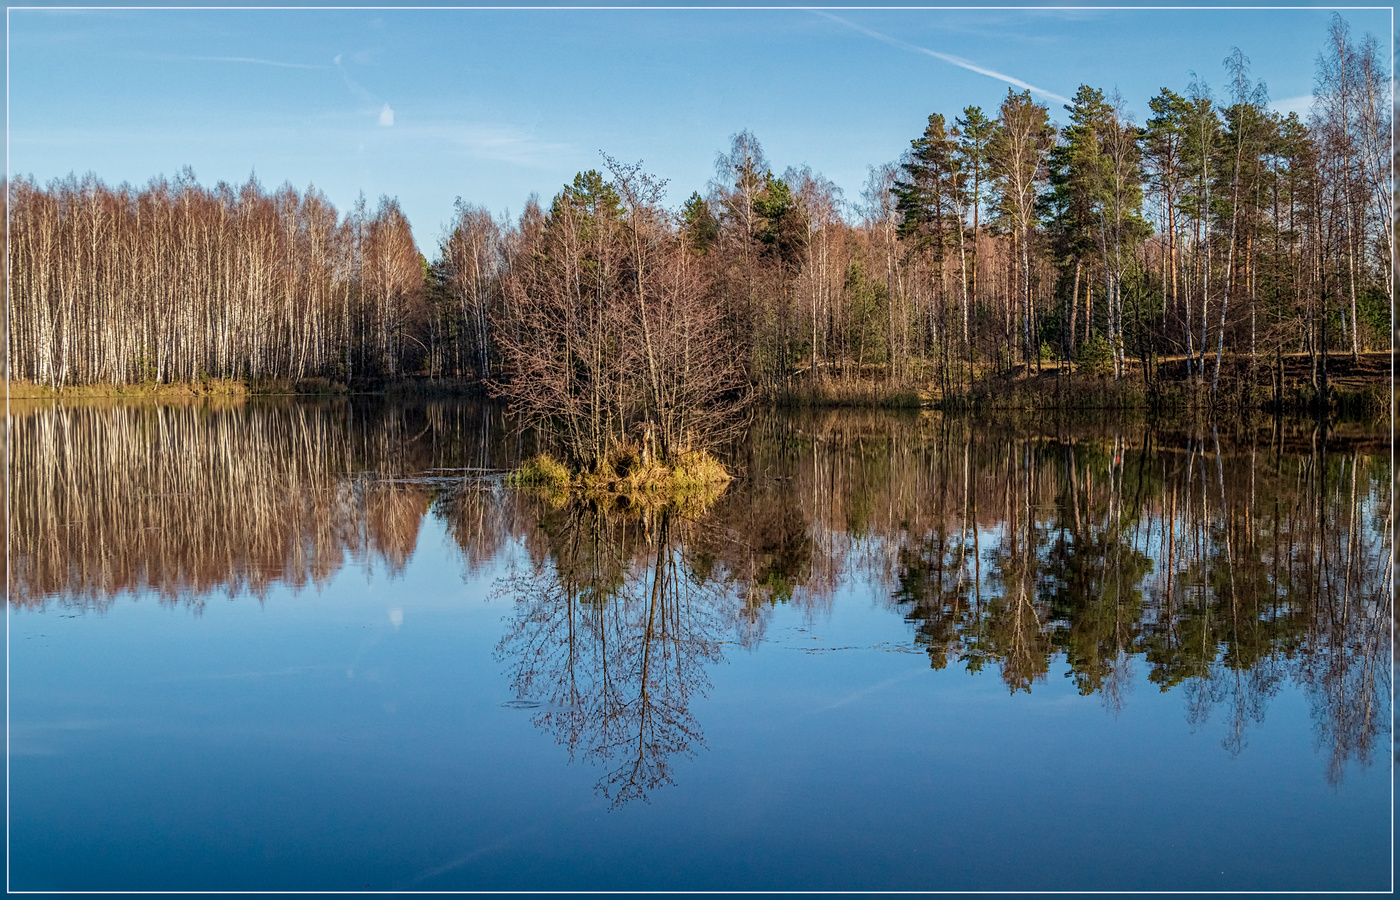
<svg viewBox="0 0 1400 900"><path fill-rule="evenodd" d="M1145 680L1229 753L1296 684L1331 780L1390 715L1393 476L1373 433L769 414L729 451L741 477L682 519L505 490L493 473L535 444L470 403L32 406L10 427L18 606L197 607L323 585L347 558L393 578L426 515L469 572L524 547L500 655L536 722L612 767L615 803L701 746L692 701L725 641L857 585L934 669L1016 694L1063 665L1109 710Z"/></svg>

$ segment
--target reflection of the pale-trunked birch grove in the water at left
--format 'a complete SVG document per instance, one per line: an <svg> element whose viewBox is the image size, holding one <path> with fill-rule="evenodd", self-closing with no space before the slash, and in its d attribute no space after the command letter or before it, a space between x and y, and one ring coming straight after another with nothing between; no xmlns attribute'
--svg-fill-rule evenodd
<svg viewBox="0 0 1400 900"><path fill-rule="evenodd" d="M346 558L396 577L442 491L431 476L508 459L512 448L479 444L483 414L489 423L482 407L343 400L17 402L10 602L105 607L148 592L202 607L218 592L322 586Z"/></svg>

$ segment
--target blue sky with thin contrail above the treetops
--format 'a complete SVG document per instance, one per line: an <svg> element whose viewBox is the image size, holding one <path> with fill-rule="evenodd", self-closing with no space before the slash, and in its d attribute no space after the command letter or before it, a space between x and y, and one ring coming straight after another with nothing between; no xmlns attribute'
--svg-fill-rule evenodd
<svg viewBox="0 0 1400 900"><path fill-rule="evenodd" d="M315 183L346 210L398 196L428 256L455 197L518 213L599 150L704 192L749 129L773 168L858 200L928 113L988 115L1028 84L1051 118L1081 84L1138 122L1191 73L1224 92L1239 46L1306 109L1331 10L11 10L8 171L140 185ZM1343 10L1382 39L1389 8ZM1389 62L1389 60L1387 60Z"/></svg>

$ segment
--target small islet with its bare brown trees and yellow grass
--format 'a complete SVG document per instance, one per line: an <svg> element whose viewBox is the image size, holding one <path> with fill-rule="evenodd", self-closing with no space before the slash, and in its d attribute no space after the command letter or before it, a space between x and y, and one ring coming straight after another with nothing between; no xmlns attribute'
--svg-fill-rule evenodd
<svg viewBox="0 0 1400 900"><path fill-rule="evenodd" d="M665 182L605 160L612 178L580 174L543 223L539 253L563 265L504 284L514 321L497 342L511 378L491 391L563 456L535 456L511 483L704 505L729 480L707 448L738 423L745 372L706 302L694 227L661 206ZM591 252L578 253L580 235Z"/></svg>

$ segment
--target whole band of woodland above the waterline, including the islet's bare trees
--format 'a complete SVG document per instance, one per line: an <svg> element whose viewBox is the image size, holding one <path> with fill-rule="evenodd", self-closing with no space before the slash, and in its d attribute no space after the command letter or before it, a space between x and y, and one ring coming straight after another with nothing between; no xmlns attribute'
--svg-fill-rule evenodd
<svg viewBox="0 0 1400 900"><path fill-rule="evenodd" d="M1222 357L1289 354L1326 378L1327 354L1390 347L1387 73L1337 17L1306 119L1239 50L1144 120L1089 85L1063 111L1008 91L931 115L858 199L777 174L746 130L679 209L605 157L510 221L459 200L431 260L388 197L20 178L10 374L484 379L580 456L638 421L685 444L720 398L813 379L949 392L1072 361L1151 384L1170 360L1214 391Z"/></svg>

